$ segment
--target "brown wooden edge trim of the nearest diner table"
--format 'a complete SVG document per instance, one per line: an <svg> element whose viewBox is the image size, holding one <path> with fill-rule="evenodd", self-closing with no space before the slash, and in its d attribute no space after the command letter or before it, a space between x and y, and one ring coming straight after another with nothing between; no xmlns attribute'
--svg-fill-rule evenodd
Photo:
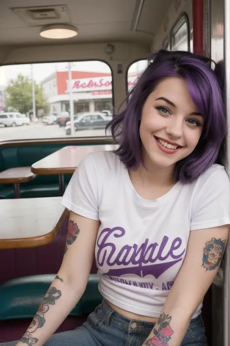
<svg viewBox="0 0 230 346"><path fill-rule="evenodd" d="M0 250L2 249L24 249L24 248L35 248L42 245L49 244L57 235L59 227L62 222L69 215L69 210L66 208L63 210L62 215L57 220L52 231L42 236L33 236L28 238L6 238L0 239Z"/></svg>

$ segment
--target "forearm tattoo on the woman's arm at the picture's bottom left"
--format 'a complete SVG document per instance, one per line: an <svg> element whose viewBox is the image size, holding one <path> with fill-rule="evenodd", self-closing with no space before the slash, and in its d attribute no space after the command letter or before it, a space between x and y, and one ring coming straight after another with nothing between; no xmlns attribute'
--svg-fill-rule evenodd
<svg viewBox="0 0 230 346"><path fill-rule="evenodd" d="M55 287L49 288L38 308L38 311L36 312L36 315L33 317L33 321L31 322L26 333L21 338L20 342L29 346L33 346L38 341L37 338L33 337L32 333L38 328L44 326L46 322L45 313L49 310L49 306L54 305L55 300L59 299L61 295L61 291L56 289Z"/></svg>

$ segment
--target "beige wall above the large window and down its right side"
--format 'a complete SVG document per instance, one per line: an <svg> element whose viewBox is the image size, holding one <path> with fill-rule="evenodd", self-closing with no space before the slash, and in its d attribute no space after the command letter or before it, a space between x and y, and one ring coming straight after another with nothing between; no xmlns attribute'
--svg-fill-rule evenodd
<svg viewBox="0 0 230 346"><path fill-rule="evenodd" d="M115 111L126 96L126 70L136 60L146 58L150 47L134 43L113 43L114 53L106 54L106 43L79 45L50 45L34 47L0 47L0 64L102 60L113 73ZM123 73L117 73L122 64Z"/></svg>

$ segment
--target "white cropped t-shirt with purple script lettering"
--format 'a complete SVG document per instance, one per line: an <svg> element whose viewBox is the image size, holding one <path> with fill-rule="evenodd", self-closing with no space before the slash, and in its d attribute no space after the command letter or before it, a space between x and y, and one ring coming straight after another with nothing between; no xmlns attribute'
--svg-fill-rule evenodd
<svg viewBox="0 0 230 346"><path fill-rule="evenodd" d="M119 157L96 152L81 161L61 204L100 220L95 257L101 295L126 311L159 317L190 231L230 223L230 182L214 164L197 181L179 181L164 196L146 200Z"/></svg>

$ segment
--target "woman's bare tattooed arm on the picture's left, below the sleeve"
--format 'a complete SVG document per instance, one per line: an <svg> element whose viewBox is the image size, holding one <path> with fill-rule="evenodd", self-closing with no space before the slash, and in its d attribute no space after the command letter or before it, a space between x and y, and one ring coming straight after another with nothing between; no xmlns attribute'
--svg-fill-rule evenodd
<svg viewBox="0 0 230 346"><path fill-rule="evenodd" d="M98 229L99 221L70 212L62 265L16 346L42 346L82 297L93 263Z"/></svg>

